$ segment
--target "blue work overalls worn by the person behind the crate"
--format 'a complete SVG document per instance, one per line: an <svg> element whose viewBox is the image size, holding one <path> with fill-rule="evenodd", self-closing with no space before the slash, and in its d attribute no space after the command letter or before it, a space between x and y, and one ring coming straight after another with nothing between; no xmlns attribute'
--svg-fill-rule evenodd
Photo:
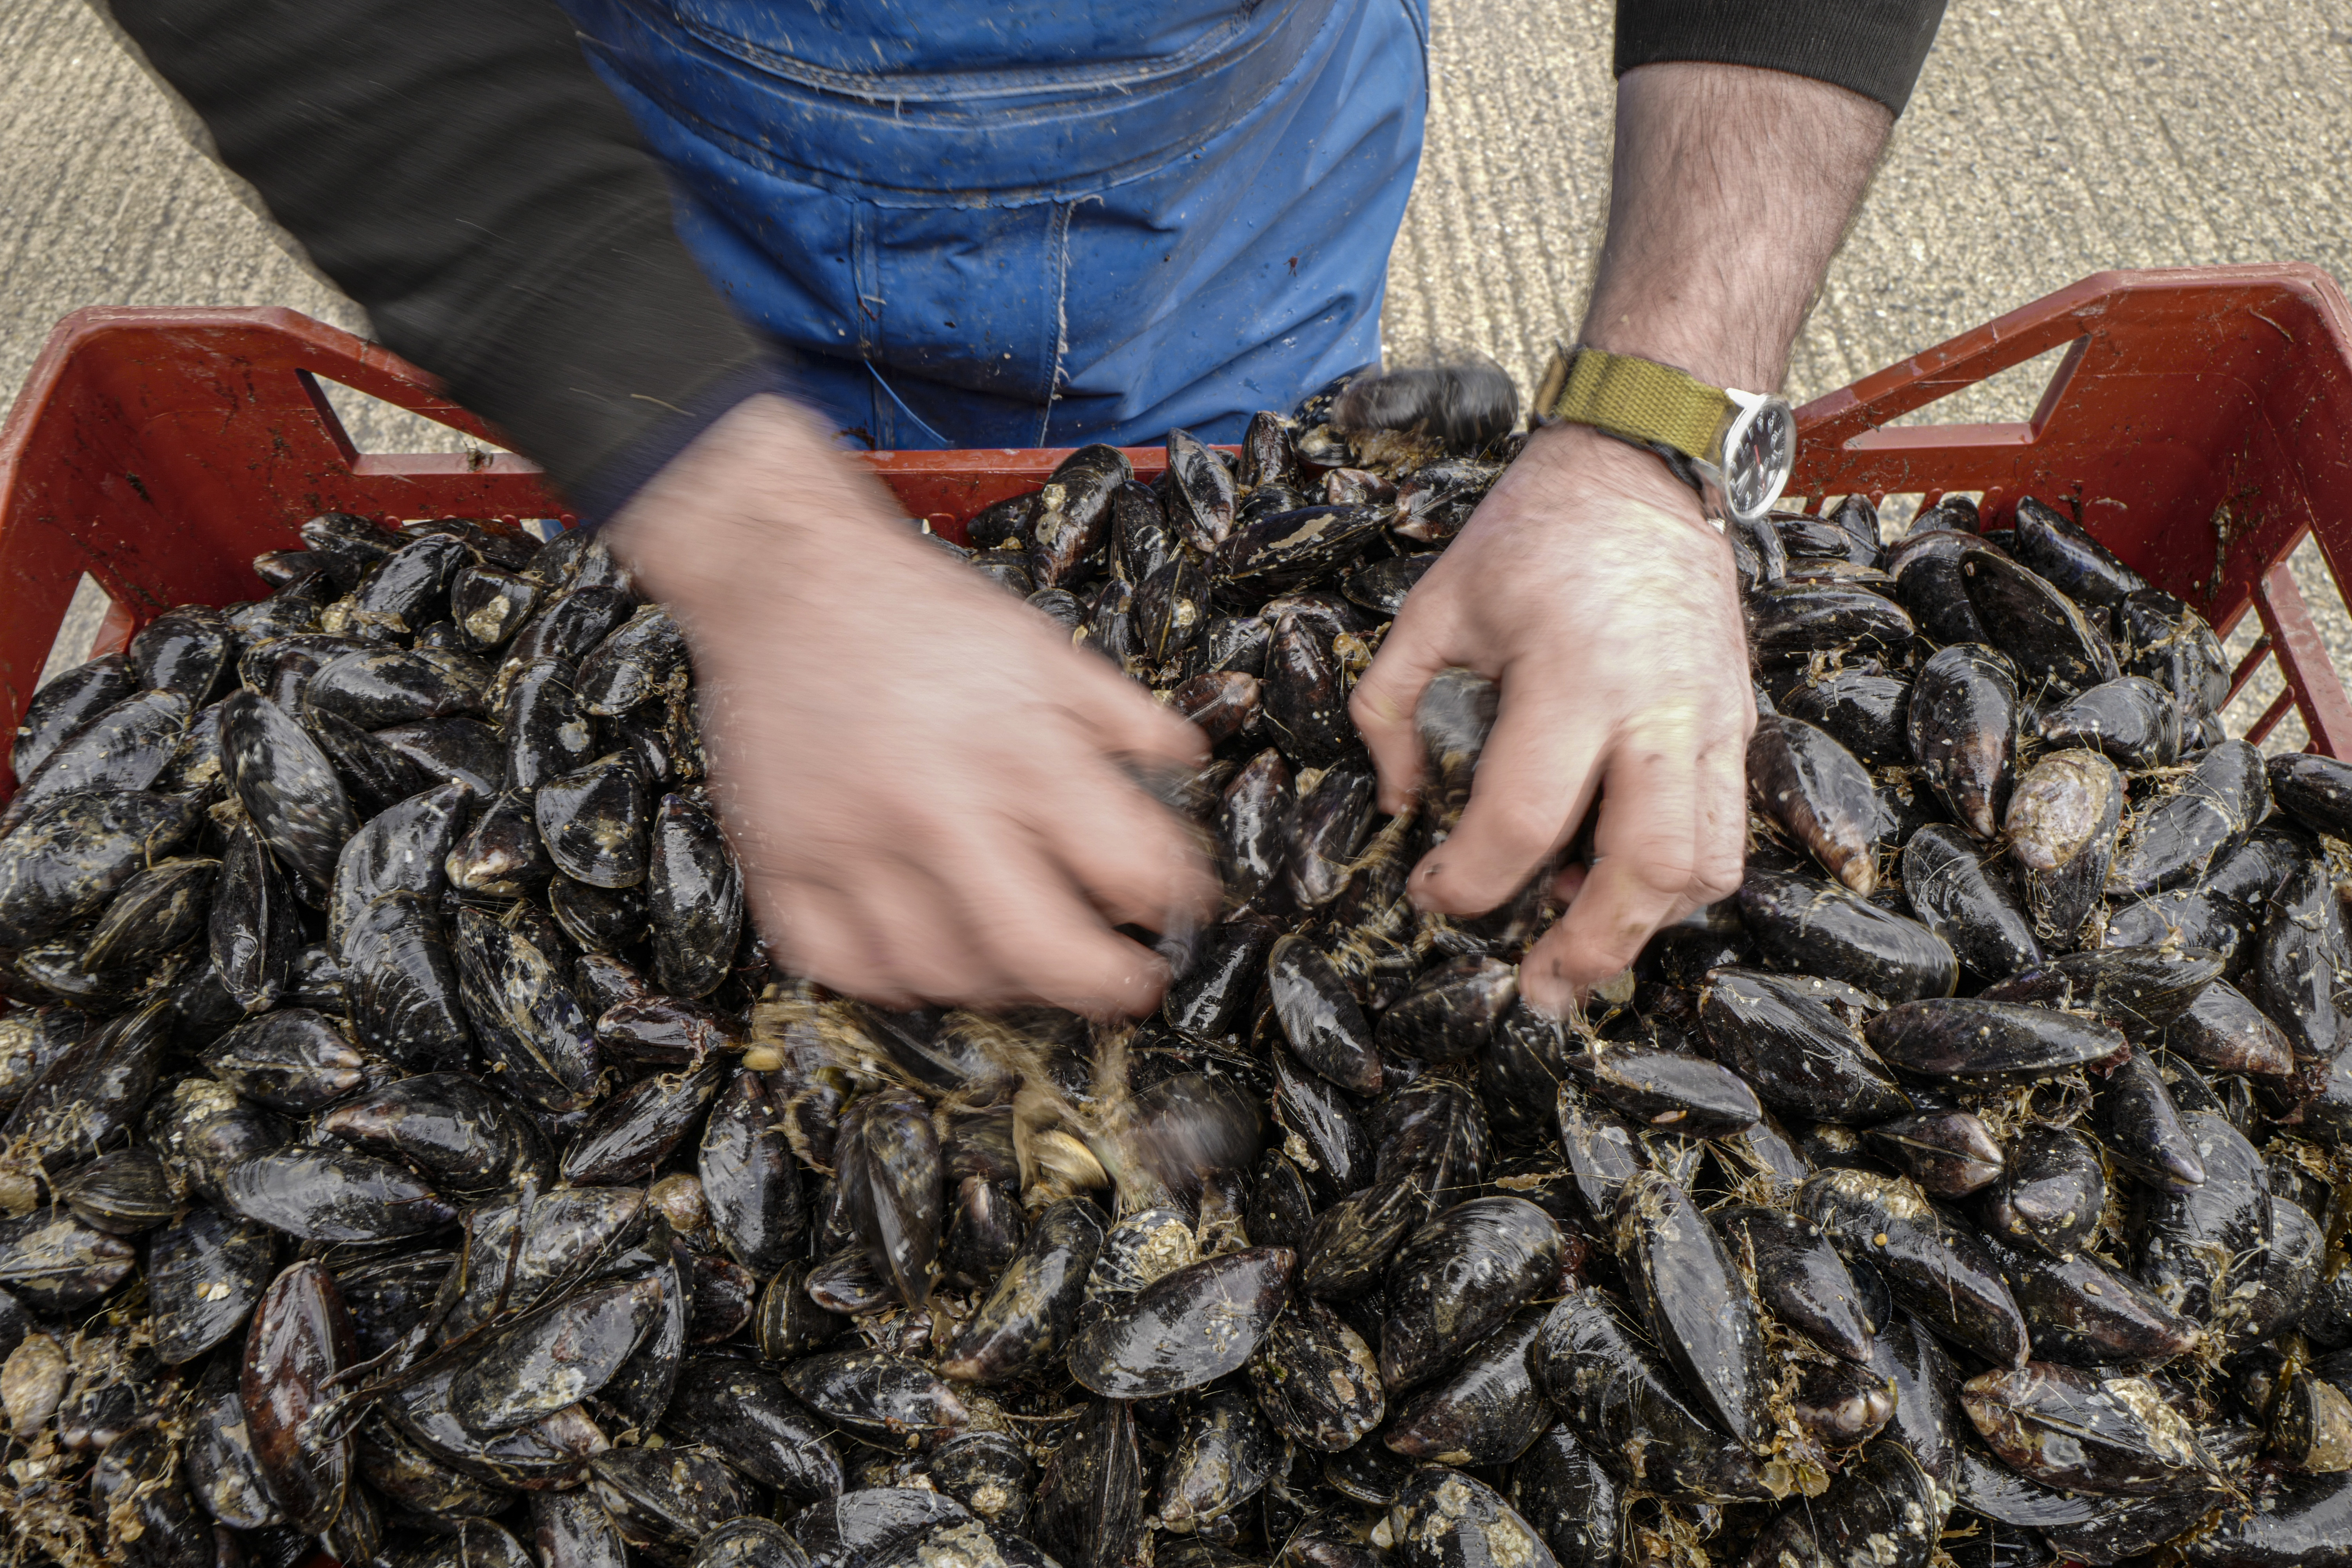
<svg viewBox="0 0 2352 1568"><path fill-rule="evenodd" d="M1425 0L562 5L856 440L1235 440L1378 360Z"/></svg>

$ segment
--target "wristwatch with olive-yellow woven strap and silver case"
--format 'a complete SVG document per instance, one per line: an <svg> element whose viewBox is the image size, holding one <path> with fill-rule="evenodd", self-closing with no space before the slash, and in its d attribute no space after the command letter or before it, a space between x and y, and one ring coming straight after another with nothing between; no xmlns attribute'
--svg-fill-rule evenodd
<svg viewBox="0 0 2352 1568"><path fill-rule="evenodd" d="M1797 411L1771 393L1712 388L1656 360L1555 348L1536 416L1649 447L1717 524L1755 524L1797 465Z"/></svg>

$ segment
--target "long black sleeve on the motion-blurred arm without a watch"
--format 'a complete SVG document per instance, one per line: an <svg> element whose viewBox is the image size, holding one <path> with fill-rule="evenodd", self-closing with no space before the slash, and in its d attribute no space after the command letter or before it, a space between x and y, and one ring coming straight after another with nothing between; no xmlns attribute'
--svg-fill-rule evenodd
<svg viewBox="0 0 2352 1568"><path fill-rule="evenodd" d="M376 336L583 510L779 381L550 0L101 2Z"/></svg>

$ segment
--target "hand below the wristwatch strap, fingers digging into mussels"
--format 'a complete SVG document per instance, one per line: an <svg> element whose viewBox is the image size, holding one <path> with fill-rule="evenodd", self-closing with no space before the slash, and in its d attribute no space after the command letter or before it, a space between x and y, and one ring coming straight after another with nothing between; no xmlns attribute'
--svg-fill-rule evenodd
<svg viewBox="0 0 2352 1568"><path fill-rule="evenodd" d="M1390 811L1423 771L1414 703L1449 665L1501 682L1503 708L1414 903L1496 907L1602 797L1592 875L1562 872L1573 903L1519 971L1531 1004L1564 1011L1651 931L1738 891L1757 715L1731 545L1658 458L1536 435L1421 578L1352 701Z"/></svg>

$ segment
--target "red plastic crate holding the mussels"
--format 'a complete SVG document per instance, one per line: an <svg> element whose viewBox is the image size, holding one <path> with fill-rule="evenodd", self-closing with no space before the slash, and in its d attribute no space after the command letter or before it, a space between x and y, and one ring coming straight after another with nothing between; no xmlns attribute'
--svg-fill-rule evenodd
<svg viewBox="0 0 2352 1568"><path fill-rule="evenodd" d="M2025 423L1884 428L2072 343ZM113 599L99 651L186 602L261 590L249 559L322 510L369 517L562 517L513 456L353 449L320 390L339 381L477 440L494 433L433 378L294 310L68 315L0 428L0 719L24 717L80 574ZM2277 658L2286 691L2253 738L2303 712L2312 750L2352 757L2352 705L2286 569L2317 531L2352 569L2352 308L2310 266L2096 273L1799 411L1795 496L1983 491L1987 527L2020 494L2084 524L2227 635L2263 637L2232 693ZM870 463L950 538L1033 489L1063 451L898 451ZM1162 454L1129 454L1143 477ZM14 788L0 764L0 797Z"/></svg>

